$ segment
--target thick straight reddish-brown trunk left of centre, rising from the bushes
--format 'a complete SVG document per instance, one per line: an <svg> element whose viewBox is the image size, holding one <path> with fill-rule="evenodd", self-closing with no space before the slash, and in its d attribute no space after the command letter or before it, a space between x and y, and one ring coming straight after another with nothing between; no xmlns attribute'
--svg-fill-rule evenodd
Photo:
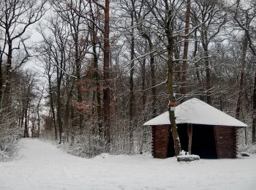
<svg viewBox="0 0 256 190"><path fill-rule="evenodd" d="M105 0L104 50L103 50L103 120L105 135L105 150L110 151L110 0Z"/></svg>

